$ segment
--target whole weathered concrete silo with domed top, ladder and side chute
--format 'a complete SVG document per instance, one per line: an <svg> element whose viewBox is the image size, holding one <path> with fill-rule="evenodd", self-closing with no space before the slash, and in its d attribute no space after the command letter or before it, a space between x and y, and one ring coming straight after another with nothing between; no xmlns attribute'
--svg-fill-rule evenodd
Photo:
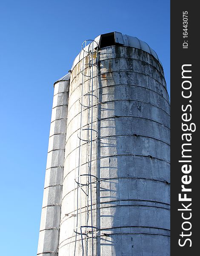
<svg viewBox="0 0 200 256"><path fill-rule="evenodd" d="M100 35L54 88L38 255L169 256L169 96L157 54Z"/></svg>

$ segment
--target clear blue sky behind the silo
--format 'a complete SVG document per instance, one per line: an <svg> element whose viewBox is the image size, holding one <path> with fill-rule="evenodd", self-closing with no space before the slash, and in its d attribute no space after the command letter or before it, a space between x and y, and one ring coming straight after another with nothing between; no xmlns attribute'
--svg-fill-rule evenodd
<svg viewBox="0 0 200 256"><path fill-rule="evenodd" d="M169 88L169 5L169 0L0 1L1 255L37 252L54 81L71 68L84 40L118 31L157 52Z"/></svg>

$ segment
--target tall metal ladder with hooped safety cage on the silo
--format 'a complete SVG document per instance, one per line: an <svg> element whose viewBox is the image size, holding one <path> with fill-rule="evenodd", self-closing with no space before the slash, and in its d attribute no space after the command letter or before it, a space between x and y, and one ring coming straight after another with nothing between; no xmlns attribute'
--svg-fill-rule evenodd
<svg viewBox="0 0 200 256"><path fill-rule="evenodd" d="M89 45L87 46L87 43ZM91 239L91 256L97 256L97 215L98 215L98 189L97 189L97 144L98 144L98 67L97 67L97 56L98 47L94 49L94 40L86 40L82 44L83 51L83 63L80 68L80 73L82 74L81 82L81 97L79 99L80 103L80 129L77 134L79 138L79 160L78 160L78 176L75 177L75 182L77 184L77 213L75 232L75 246L74 246L74 256L76 253L76 243L77 237L80 236L82 244L82 256L88 256L88 240ZM97 43L96 43L97 44ZM86 51L86 46L88 51ZM86 63L86 56L89 58L89 63ZM95 59L95 61L94 61ZM94 88L94 67L96 67L96 88ZM86 71L89 70L89 74ZM87 79L87 81L85 81ZM88 83L88 91L84 93L85 85ZM87 99L87 103L85 103ZM96 101L96 103L94 103ZM85 109L83 109L85 108ZM96 108L97 114L94 116L94 109ZM83 111L87 111L87 125L83 125ZM96 126L96 128L94 127ZM85 137L86 138L85 138ZM86 145L86 168L83 171L82 166L82 149L83 145ZM96 150L96 157L93 159L93 150ZM84 152L85 153L85 152ZM92 161L95 161L95 174L92 174ZM93 171L94 172L94 171ZM96 191L95 207L93 205L92 194L93 189ZM85 202L85 224L82 225L82 193L86 197ZM96 224L94 224L93 211L96 211ZM94 244L96 244L96 250L94 249ZM95 251L96 253L95 253Z"/></svg>

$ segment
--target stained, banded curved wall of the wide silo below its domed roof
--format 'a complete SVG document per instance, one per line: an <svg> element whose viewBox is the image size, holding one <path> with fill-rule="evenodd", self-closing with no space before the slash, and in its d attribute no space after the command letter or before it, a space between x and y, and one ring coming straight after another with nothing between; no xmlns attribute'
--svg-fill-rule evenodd
<svg viewBox="0 0 200 256"><path fill-rule="evenodd" d="M94 139L91 167L95 175L97 153L97 216L95 183L92 212L98 232L93 254L91 234L83 237L82 248L81 236L74 232L87 218L86 191L77 192L75 181L78 169L86 173L88 154L83 141L79 162L82 64L70 77L58 256L72 256L74 248L75 256L82 255L83 248L87 256L169 256L169 96L160 63L139 49L106 47L99 52L98 128L94 121L98 152ZM94 68L94 88L95 73ZM83 94L88 92L89 67L85 75ZM87 105L85 97L83 102ZM88 109L82 113L86 128L91 125Z"/></svg>

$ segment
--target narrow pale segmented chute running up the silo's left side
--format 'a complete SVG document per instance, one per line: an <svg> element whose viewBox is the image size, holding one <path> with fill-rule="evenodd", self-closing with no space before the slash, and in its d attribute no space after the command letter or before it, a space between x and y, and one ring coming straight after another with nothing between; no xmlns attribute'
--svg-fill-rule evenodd
<svg viewBox="0 0 200 256"><path fill-rule="evenodd" d="M37 254L57 256L63 185L69 81L54 85L43 206Z"/></svg>

